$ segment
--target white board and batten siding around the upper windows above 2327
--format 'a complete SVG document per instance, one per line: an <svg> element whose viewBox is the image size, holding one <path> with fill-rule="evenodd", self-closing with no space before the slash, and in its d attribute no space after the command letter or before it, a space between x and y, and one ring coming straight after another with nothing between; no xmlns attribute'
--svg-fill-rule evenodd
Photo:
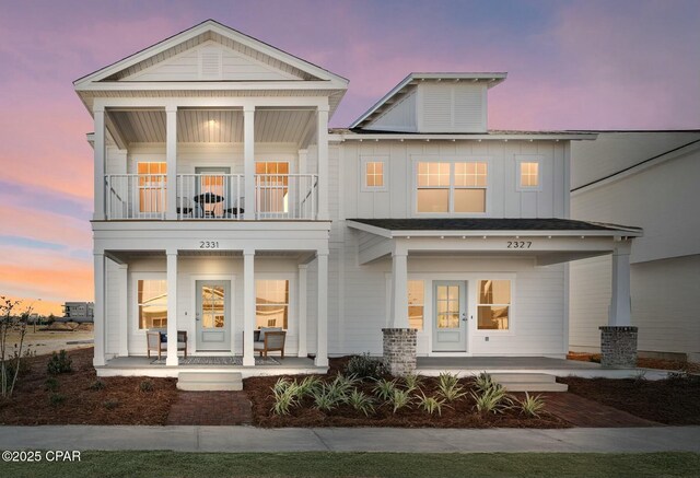
<svg viewBox="0 0 700 478"><path fill-rule="evenodd" d="M416 163L488 163L487 214L493 218L567 218L568 147L553 141L346 141L342 149L345 218L420 218L416 212ZM362 159L386 161L386 190L362 190ZM539 161L539 190L518 190L517 161ZM443 214L444 215L444 214ZM425 217L425 215L422 215Z"/></svg>

